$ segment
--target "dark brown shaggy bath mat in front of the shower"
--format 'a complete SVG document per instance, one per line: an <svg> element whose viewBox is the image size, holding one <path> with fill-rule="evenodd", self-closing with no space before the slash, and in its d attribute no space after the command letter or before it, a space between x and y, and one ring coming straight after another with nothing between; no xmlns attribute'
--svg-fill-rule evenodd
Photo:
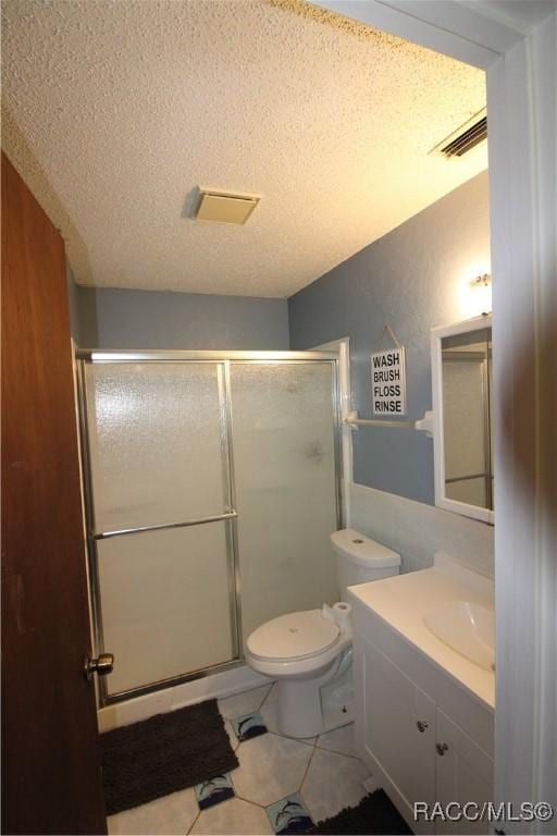
<svg viewBox="0 0 557 836"><path fill-rule="evenodd" d="M107 815L235 770L216 700L157 714L100 736Z"/></svg>

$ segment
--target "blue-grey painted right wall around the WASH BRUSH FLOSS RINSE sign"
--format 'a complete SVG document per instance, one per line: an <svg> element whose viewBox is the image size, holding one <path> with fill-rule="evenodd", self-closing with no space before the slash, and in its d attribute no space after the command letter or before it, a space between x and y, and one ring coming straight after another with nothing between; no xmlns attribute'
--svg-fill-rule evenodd
<svg viewBox="0 0 557 836"><path fill-rule="evenodd" d="M421 418L431 409L430 329L481 312L469 281L488 268L484 172L290 297L290 347L349 336L352 407L371 418L370 354L392 347L388 322L406 348L408 417ZM361 428L354 479L433 504L432 441L413 429Z"/></svg>

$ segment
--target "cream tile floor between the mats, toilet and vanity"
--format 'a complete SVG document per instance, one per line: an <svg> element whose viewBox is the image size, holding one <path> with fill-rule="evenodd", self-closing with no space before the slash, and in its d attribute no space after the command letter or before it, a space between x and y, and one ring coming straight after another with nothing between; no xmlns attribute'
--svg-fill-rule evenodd
<svg viewBox="0 0 557 836"><path fill-rule="evenodd" d="M239 761L228 773L234 798L200 811L194 788L173 792L109 816L109 834L262 836L280 831L285 816L306 821L309 814L318 822L357 804L369 772L356 755L354 725L310 740L284 737L277 733L275 697L275 688L265 685L219 701ZM256 712L269 732L239 742L231 721Z"/></svg>

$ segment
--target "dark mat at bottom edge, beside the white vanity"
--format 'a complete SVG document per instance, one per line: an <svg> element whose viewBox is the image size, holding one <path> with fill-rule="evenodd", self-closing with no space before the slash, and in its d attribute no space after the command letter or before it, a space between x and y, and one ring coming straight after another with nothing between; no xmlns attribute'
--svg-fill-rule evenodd
<svg viewBox="0 0 557 836"><path fill-rule="evenodd" d="M366 796L358 807L346 807L332 819L318 822L307 831L321 836L375 836L381 834L411 834L412 831L382 789Z"/></svg>

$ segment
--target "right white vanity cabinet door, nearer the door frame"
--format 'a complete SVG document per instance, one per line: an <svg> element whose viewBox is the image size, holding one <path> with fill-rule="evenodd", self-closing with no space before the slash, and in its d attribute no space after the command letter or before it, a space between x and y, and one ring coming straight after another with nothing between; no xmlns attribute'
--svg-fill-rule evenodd
<svg viewBox="0 0 557 836"><path fill-rule="evenodd" d="M493 760L462 729L437 709L436 800L446 809L450 802L472 802L481 809L493 798ZM475 807L471 809L474 812ZM487 833L485 822L443 822L435 833Z"/></svg>

